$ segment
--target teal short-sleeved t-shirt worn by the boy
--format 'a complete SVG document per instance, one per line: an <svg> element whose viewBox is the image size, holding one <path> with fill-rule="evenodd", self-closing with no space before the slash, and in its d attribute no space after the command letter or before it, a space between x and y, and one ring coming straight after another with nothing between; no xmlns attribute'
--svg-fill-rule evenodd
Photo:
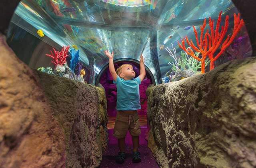
<svg viewBox="0 0 256 168"><path fill-rule="evenodd" d="M133 78L132 80L124 80L117 76L117 102L116 110L138 110L140 106L140 78Z"/></svg>

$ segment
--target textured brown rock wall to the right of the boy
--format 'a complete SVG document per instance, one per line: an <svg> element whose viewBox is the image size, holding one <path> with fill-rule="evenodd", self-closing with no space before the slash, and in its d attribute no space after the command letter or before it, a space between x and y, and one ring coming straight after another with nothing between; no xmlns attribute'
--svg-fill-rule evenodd
<svg viewBox="0 0 256 168"><path fill-rule="evenodd" d="M256 58L147 90L148 146L172 168L256 167Z"/></svg>

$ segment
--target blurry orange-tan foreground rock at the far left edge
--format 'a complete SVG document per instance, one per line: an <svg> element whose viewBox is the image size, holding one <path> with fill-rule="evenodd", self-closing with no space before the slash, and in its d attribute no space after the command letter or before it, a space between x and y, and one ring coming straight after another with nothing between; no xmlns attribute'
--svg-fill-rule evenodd
<svg viewBox="0 0 256 168"><path fill-rule="evenodd" d="M32 71L0 36L0 165L64 167L64 134Z"/></svg>

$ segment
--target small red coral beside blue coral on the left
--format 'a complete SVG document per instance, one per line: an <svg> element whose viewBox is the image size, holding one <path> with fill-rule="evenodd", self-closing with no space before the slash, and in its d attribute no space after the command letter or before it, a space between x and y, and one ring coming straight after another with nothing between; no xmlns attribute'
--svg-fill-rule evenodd
<svg viewBox="0 0 256 168"><path fill-rule="evenodd" d="M66 58L69 56L68 54L68 50L69 50L70 46L63 46L63 48L61 49L61 51L56 51L55 48L52 48L53 49L53 52L51 52L51 55L50 54L46 54L46 56L49 56L51 57L53 60L51 61L55 66L56 65L63 65L66 63Z"/></svg>

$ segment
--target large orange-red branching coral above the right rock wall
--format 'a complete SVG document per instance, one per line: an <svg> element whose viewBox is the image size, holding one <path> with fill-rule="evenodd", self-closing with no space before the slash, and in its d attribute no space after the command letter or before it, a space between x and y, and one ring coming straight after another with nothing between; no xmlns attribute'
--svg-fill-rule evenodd
<svg viewBox="0 0 256 168"><path fill-rule="evenodd" d="M214 20L212 20L211 17L209 18L210 33L209 33L209 30L207 29L205 35L204 35L204 28L206 26L206 18L204 19L203 26L200 26L200 30L201 30L200 41L198 40L196 28L193 26L194 33L196 36L197 47L194 45L192 40L190 39L190 41L189 41L188 37L186 36L187 44L192 49L194 49L196 52L200 52L202 54L202 58L198 58L197 56L195 56L195 53L191 48L186 49L185 39L182 39L182 44L180 44L180 42L178 42L178 45L180 46L180 48L182 50L184 50L188 55L192 56L193 58L195 58L198 61L201 61L201 72L202 73L204 73L205 60L206 60L207 56L210 59L210 70L212 70L212 69L214 69L214 62L221 56L221 54L223 54L223 52L226 50L226 48L233 42L234 38L236 37L236 35L238 34L238 32L240 31L242 26L244 26L244 20L240 20L240 13L238 13L238 16L236 16L236 14L234 14L233 34L232 34L231 38L230 38L230 35L228 35L226 40L222 43L224 36L226 35L226 32L228 31L229 17L226 16L225 25L221 27L221 31L219 33L221 14L222 14L222 11L220 11L215 31L214 31ZM214 53L219 48L220 44L222 45L220 52L214 57Z"/></svg>

